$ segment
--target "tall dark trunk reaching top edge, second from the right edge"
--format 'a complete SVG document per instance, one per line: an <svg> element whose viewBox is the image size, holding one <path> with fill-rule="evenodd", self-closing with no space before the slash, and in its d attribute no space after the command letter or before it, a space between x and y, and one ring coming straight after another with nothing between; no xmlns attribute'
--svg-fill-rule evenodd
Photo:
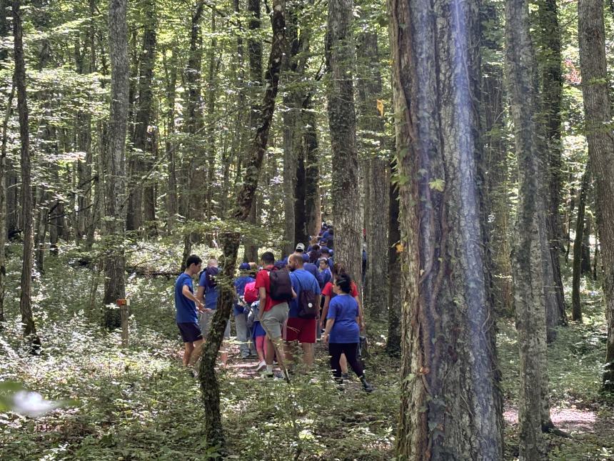
<svg viewBox="0 0 614 461"><path fill-rule="evenodd" d="M538 22L540 25L540 63L542 82L542 117L545 127L545 141L548 155L545 157L545 181L548 184L545 202L548 205L546 224L548 225L548 249L553 271L555 302L546 312L548 329L565 324L565 298L563 280L560 276L559 254L562 248L563 228L560 224L559 206L561 178L561 103L563 101L563 72L560 45L560 26L556 0L538 2ZM552 336L550 334L550 336Z"/></svg>

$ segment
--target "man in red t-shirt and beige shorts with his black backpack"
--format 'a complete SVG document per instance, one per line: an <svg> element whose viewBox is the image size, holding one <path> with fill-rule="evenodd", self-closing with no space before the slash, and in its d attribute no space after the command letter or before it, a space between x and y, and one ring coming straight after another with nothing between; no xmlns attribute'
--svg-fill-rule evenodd
<svg viewBox="0 0 614 461"><path fill-rule="evenodd" d="M273 377L273 355L278 351L277 360L284 369L283 341L281 330L288 319L288 302L296 297L293 292L290 274L283 269L274 267L275 256L264 252L261 256L263 269L256 274L256 289L260 299L258 320L266 331L265 340L265 377ZM286 377L287 379L287 377Z"/></svg>

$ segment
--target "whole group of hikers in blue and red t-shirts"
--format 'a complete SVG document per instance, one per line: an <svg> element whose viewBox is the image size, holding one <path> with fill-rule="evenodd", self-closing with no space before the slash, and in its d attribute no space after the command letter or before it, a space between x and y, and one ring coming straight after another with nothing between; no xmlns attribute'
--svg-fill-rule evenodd
<svg viewBox="0 0 614 461"><path fill-rule="evenodd" d="M318 339L328 346L331 370L338 385L349 379L348 365L361 380L363 390L373 391L361 362L361 330L364 317L358 289L343 264L333 260L334 229L326 222L308 247L298 243L292 254L276 261L272 252L261 255L261 265L243 262L234 280L236 299L233 315L241 359L258 358L256 370L263 377L283 377L299 368L313 367ZM363 256L364 257L364 256ZM220 269L211 257L203 260L192 254L186 269L175 283L176 322L183 339L183 365L191 368L201 354L216 312ZM192 279L197 274L194 293ZM224 339L229 339L228 319ZM225 341L226 342L226 341ZM298 367L296 344L303 351ZM228 350L220 349L226 367ZM273 372L277 362L280 372Z"/></svg>

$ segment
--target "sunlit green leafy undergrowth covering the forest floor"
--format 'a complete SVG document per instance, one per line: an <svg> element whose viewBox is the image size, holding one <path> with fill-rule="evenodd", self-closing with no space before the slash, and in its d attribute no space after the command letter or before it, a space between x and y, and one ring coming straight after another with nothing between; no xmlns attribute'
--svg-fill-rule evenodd
<svg viewBox="0 0 614 461"><path fill-rule="evenodd" d="M0 332L0 380L15 380L48 399L77 404L39 419L0 412L1 460L206 460L198 380L181 367L174 324L173 282L129 277L131 345L101 329L101 278L69 250L47 258L34 284L43 354L29 355L19 324L19 247L11 247L6 327ZM178 249L139 248L167 270ZM149 255L149 256L148 256ZM159 264L168 259L168 267ZM98 280L98 282L96 282ZM568 294L568 293L566 293ZM570 298L570 294L568 294ZM605 319L598 289L583 284L584 322L570 322L548 350L552 417L570 438L548 436L550 460L614 460L614 399L599 394ZM316 371L291 385L263 380L255 361L238 360L236 345L219 370L228 459L386 460L393 457L399 405L398 359L383 350L383 324L370 324L367 395L354 379L339 392L323 344ZM505 460L518 445L518 350L513 319L498 319L498 359L505 399Z"/></svg>

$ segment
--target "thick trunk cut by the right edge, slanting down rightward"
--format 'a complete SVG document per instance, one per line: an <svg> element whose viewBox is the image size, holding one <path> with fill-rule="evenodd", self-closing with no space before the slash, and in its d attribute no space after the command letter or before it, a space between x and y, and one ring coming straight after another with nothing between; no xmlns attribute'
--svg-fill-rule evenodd
<svg viewBox="0 0 614 461"><path fill-rule="evenodd" d="M603 1L578 2L580 71L591 174L595 181L597 227L603 258L603 294L608 318L603 390L614 391L614 132L605 59Z"/></svg>

